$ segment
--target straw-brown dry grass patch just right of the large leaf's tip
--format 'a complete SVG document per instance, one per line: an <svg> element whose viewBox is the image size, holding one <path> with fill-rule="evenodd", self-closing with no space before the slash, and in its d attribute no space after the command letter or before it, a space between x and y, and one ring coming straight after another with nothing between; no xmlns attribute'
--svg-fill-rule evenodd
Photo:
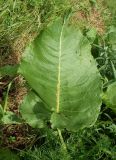
<svg viewBox="0 0 116 160"><path fill-rule="evenodd" d="M99 35L103 35L105 33L103 12L106 8L102 7L102 3L98 2L98 8L91 6L89 1L73 1L73 3L76 3L77 10L75 9L71 23L82 29L94 27ZM81 7L78 7L79 3L81 3Z"/></svg>

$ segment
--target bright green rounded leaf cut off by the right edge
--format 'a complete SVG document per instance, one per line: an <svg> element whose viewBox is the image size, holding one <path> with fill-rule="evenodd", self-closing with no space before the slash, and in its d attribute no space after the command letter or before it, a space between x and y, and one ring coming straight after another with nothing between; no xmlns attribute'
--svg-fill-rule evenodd
<svg viewBox="0 0 116 160"><path fill-rule="evenodd" d="M103 102L108 108L116 112L116 82L110 84L103 94Z"/></svg>

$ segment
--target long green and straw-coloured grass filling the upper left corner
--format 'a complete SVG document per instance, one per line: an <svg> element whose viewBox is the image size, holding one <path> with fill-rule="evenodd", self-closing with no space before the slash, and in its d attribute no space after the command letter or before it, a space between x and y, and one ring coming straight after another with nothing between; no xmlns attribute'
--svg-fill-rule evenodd
<svg viewBox="0 0 116 160"><path fill-rule="evenodd" d="M56 16L63 15L70 7L68 2L60 2L53 0L0 1L0 65L4 65L3 61L6 61L6 64L17 63L23 48L39 33L39 30ZM17 54L13 54L13 51Z"/></svg>

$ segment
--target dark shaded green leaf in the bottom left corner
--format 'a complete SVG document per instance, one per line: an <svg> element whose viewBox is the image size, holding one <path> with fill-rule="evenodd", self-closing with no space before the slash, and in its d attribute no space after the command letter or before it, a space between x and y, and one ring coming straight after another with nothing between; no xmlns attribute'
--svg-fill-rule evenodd
<svg viewBox="0 0 116 160"><path fill-rule="evenodd" d="M8 149L0 149L0 160L19 160L19 158Z"/></svg>

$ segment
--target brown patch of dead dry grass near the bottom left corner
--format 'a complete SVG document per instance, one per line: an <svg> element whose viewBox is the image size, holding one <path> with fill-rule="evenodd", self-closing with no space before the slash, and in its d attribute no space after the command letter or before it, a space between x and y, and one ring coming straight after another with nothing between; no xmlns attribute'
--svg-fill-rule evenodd
<svg viewBox="0 0 116 160"><path fill-rule="evenodd" d="M2 136L2 147L11 149L24 149L35 142L34 130L26 124L4 126Z"/></svg>

